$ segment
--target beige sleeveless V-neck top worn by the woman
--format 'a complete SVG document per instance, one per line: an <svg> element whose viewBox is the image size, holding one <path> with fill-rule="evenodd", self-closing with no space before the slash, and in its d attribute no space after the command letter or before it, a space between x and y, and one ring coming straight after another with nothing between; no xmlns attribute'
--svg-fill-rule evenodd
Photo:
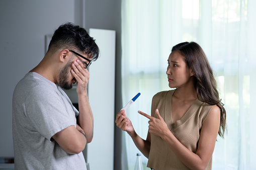
<svg viewBox="0 0 256 170"><path fill-rule="evenodd" d="M172 96L175 90L162 91L154 95L153 107L158 109L161 117L175 137L189 150L196 153L200 130L212 105L196 99L184 116L173 123ZM161 137L151 134L151 146L147 167L155 170L189 169L169 148ZM206 169L212 168L212 157Z"/></svg>

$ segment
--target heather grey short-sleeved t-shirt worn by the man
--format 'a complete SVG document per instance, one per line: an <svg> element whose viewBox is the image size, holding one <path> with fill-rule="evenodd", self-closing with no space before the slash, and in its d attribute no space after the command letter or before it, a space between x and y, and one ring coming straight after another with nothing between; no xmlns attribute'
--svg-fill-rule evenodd
<svg viewBox="0 0 256 170"><path fill-rule="evenodd" d="M76 127L75 112L63 90L30 72L13 95L13 141L16 169L86 169L82 152L66 153L51 137Z"/></svg>

